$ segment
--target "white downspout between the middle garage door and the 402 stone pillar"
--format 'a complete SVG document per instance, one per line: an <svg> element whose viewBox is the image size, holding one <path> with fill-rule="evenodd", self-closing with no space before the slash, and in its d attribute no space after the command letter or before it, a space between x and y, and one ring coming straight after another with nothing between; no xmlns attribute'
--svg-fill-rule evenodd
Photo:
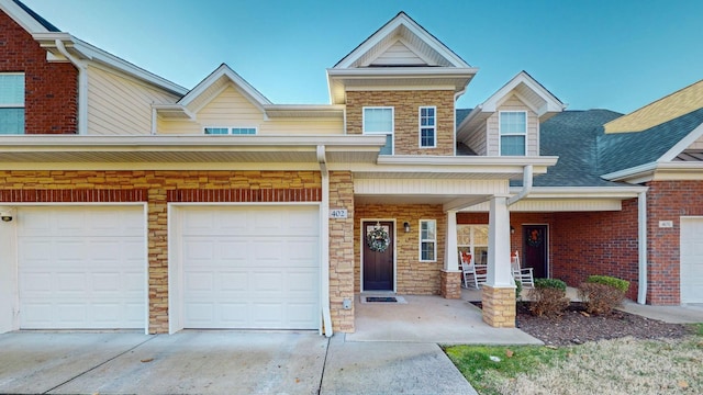
<svg viewBox="0 0 703 395"><path fill-rule="evenodd" d="M330 171L327 170L327 158L325 157L325 146L317 146L317 162L322 174L322 204L320 205L320 264L321 290L320 302L322 306L322 320L324 324L324 335L332 337L332 315L330 313Z"/></svg>

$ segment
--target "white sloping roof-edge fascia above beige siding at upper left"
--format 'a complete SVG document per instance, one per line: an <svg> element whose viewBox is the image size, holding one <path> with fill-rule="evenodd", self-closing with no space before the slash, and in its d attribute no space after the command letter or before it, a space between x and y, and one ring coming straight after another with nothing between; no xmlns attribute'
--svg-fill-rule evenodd
<svg viewBox="0 0 703 395"><path fill-rule="evenodd" d="M138 80L145 81L177 95L188 93L188 89L76 38L68 33L36 33L32 36L46 50L51 52L56 48L56 40L59 40L69 52L77 55L80 59L96 61L112 69L120 70Z"/></svg>

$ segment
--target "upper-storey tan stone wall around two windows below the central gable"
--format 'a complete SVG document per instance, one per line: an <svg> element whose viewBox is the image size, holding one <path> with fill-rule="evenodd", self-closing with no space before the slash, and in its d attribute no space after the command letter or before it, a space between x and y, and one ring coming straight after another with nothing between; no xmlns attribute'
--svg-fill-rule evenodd
<svg viewBox="0 0 703 395"><path fill-rule="evenodd" d="M437 147L420 148L420 106L437 108ZM348 91L347 133L364 131L364 106L394 109L394 155L454 155L454 91Z"/></svg>

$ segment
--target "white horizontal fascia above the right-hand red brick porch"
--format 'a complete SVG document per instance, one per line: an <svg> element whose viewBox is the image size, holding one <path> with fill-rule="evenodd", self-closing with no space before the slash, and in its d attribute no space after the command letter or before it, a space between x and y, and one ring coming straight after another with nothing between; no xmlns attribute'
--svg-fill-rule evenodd
<svg viewBox="0 0 703 395"><path fill-rule="evenodd" d="M522 188L511 187L511 193L520 192ZM632 199L648 187L533 187L529 199Z"/></svg>

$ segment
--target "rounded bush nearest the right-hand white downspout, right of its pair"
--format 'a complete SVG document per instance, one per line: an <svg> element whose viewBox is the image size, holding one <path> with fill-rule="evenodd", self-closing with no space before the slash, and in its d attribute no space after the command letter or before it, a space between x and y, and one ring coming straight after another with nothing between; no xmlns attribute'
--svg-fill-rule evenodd
<svg viewBox="0 0 703 395"><path fill-rule="evenodd" d="M607 275L591 275L579 285L579 296L590 314L610 314L625 298L629 282Z"/></svg>

